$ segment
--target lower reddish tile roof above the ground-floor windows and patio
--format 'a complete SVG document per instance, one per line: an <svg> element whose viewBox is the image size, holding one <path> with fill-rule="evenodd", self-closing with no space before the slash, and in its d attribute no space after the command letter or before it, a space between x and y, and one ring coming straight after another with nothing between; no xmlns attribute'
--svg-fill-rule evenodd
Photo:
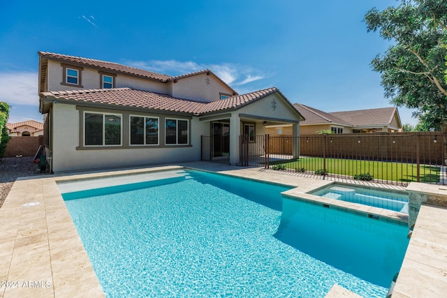
<svg viewBox="0 0 447 298"><path fill-rule="evenodd" d="M237 110L256 100L277 92L290 105L286 96L276 87L254 91L248 94L231 96L229 98L214 100L210 103L175 98L167 94L159 94L152 91L142 91L132 88L114 89L83 89L74 91L50 91L40 94L41 99L74 100L101 105L116 105L122 107L138 107L149 110L179 112L193 115L207 114L222 110ZM292 106L292 105L291 105ZM300 115L301 116L301 115Z"/></svg>

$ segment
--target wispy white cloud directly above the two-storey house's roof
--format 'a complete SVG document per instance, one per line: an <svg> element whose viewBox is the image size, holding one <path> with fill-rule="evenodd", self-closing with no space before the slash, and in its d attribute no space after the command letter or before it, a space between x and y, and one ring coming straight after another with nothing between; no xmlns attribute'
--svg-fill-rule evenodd
<svg viewBox="0 0 447 298"><path fill-rule="evenodd" d="M182 75L185 73L193 73L198 70L210 69L223 82L227 84L243 85L257 80L262 80L267 75L261 73L248 66L237 64L197 64L193 61L176 61L176 60L152 60L152 61L126 61L125 64L136 68L142 68L156 73L166 73L170 75Z"/></svg>

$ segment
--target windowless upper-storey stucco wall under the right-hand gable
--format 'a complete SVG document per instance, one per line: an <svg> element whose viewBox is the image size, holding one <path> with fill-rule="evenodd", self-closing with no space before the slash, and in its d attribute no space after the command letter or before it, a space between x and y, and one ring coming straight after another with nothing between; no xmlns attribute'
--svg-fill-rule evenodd
<svg viewBox="0 0 447 298"><path fill-rule="evenodd" d="M219 100L219 92L232 94L233 91L222 84L214 75L206 73L184 77L171 83L172 96L200 101Z"/></svg>

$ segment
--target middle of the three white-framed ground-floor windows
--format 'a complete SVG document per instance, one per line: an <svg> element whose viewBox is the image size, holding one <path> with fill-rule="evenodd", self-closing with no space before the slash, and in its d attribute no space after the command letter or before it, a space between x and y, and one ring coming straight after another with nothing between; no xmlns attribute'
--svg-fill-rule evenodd
<svg viewBox="0 0 447 298"><path fill-rule="evenodd" d="M159 119L131 116L131 145L159 144Z"/></svg>

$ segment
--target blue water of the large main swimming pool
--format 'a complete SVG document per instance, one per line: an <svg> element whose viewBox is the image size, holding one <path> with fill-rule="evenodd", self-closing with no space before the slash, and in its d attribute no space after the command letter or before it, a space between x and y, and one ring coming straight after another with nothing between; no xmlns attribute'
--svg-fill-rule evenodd
<svg viewBox="0 0 447 298"><path fill-rule="evenodd" d="M63 193L107 297L385 297L406 228L197 171ZM63 192L63 191L62 191Z"/></svg>

